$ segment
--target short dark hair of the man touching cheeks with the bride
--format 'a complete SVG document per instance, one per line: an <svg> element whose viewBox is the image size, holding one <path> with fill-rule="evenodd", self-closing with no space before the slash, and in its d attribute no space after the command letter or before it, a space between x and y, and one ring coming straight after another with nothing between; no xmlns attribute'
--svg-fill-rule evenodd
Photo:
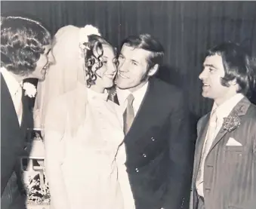
<svg viewBox="0 0 256 209"><path fill-rule="evenodd" d="M151 69L156 64L158 64L159 66L162 65L165 50L162 47L161 43L156 38L153 38L152 35L143 33L140 35L128 36L128 38L125 38L125 40L122 41L122 46L123 45L151 51L152 53L147 60L148 69Z"/></svg>

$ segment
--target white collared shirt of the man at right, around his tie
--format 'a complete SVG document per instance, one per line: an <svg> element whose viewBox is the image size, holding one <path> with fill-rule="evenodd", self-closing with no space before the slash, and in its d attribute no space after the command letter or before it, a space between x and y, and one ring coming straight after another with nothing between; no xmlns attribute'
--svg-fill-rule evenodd
<svg viewBox="0 0 256 209"><path fill-rule="evenodd" d="M214 103L211 113L216 109L216 115L217 115L217 126L214 131L214 138L217 136L217 133L221 130L222 124L224 122L224 118L226 118L228 115L230 115L230 112L233 110L233 108L239 103L240 100L242 100L244 96L242 94L236 94L233 97L231 97L229 100L222 103L220 106L217 106L216 103ZM208 133L206 134L205 141L208 137ZM205 143L204 143L205 146ZM204 147L203 147L204 149ZM208 155L208 153L205 153L205 155ZM200 164L200 168L203 169L205 166L205 163ZM203 180L203 177L202 177ZM204 197L203 193L203 181L196 187L198 195Z"/></svg>

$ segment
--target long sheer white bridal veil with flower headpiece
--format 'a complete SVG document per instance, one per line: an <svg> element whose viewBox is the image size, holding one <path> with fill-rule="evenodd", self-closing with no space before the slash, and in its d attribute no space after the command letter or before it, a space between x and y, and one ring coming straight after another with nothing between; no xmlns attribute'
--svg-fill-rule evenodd
<svg viewBox="0 0 256 209"><path fill-rule="evenodd" d="M65 115L71 121L69 128L72 132L85 119L88 102L84 56L86 48L81 48L81 42L88 40L87 35L91 34L100 35L92 26L64 26L54 35L52 50L55 64L48 69L45 81L39 81L35 98L35 123L39 124L39 128L43 129L47 125L48 128L63 131L66 118L60 112L58 114L57 106L60 109L65 106ZM59 100L61 97L63 100ZM60 123L56 123L57 117Z"/></svg>

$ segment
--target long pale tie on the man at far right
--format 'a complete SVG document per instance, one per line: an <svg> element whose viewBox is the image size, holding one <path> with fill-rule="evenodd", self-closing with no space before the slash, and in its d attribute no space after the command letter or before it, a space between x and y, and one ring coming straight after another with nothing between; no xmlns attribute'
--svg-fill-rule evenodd
<svg viewBox="0 0 256 209"><path fill-rule="evenodd" d="M205 158L208 155L208 152L210 151L211 145L214 141L216 126L217 126L217 114L216 114L216 109L214 109L214 111L211 114L210 121L209 121L207 138L205 140L205 145L202 149L202 156L201 156L200 165L199 165L199 172L198 172L197 178L196 178L197 193L202 197L203 197L203 176L204 176Z"/></svg>

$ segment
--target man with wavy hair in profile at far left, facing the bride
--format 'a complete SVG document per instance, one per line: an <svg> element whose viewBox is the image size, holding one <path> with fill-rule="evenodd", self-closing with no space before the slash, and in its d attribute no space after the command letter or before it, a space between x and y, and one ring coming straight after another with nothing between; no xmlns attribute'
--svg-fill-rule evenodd
<svg viewBox="0 0 256 209"><path fill-rule="evenodd" d="M41 23L23 17L1 22L1 208L23 209L19 156L32 128L23 80L44 79L54 57L50 32Z"/></svg>

